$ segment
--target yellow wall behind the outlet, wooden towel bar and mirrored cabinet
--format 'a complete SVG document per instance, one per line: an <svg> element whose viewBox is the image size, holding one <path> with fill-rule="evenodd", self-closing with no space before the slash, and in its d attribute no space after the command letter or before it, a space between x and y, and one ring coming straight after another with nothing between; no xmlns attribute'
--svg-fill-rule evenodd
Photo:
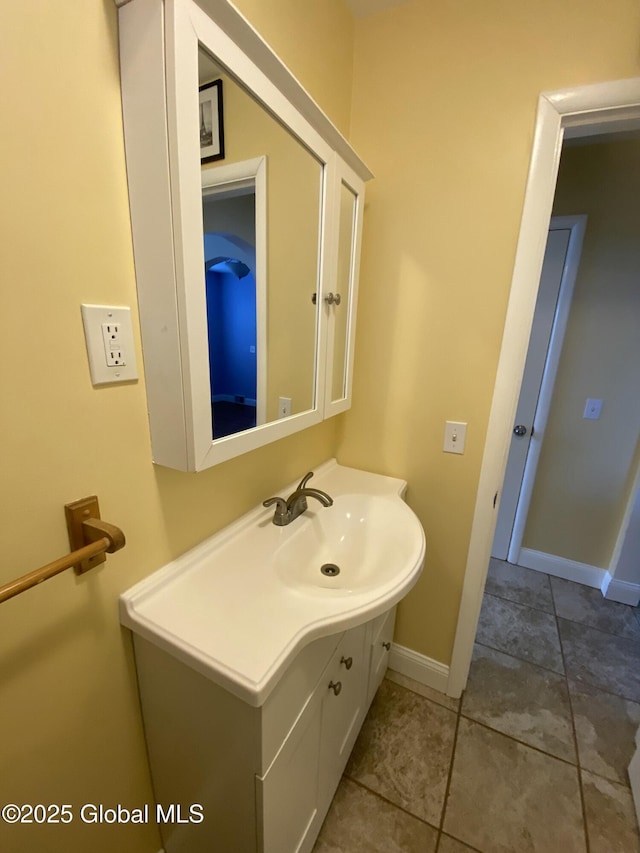
<svg viewBox="0 0 640 853"><path fill-rule="evenodd" d="M316 4L296 35L297 6L279 3L269 26L296 36L317 66L331 17ZM202 474L151 464L144 382L91 386L80 316L81 302L136 311L112 0L4 4L0 70L0 583L67 551L63 505L84 495L98 494L128 540L105 567L1 605L0 802L151 803L118 594L332 456L335 423ZM338 118L350 91L342 70L339 90L322 89ZM156 853L160 840L153 826L76 819L3 824L0 847Z"/></svg>

